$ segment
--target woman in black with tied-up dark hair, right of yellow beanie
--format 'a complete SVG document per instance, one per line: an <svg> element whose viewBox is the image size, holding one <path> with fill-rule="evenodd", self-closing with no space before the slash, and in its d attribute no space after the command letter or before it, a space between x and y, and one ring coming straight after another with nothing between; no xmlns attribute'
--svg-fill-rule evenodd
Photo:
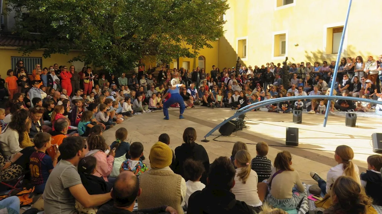
<svg viewBox="0 0 382 214"><path fill-rule="evenodd" d="M196 130L192 127L188 127L183 132L184 143L175 149L175 173L185 178L185 172L183 164L187 159L194 161L201 161L203 163L205 171L202 174L200 181L203 184L207 184L207 173L210 168L210 159L206 149L202 145L197 144Z"/></svg>

